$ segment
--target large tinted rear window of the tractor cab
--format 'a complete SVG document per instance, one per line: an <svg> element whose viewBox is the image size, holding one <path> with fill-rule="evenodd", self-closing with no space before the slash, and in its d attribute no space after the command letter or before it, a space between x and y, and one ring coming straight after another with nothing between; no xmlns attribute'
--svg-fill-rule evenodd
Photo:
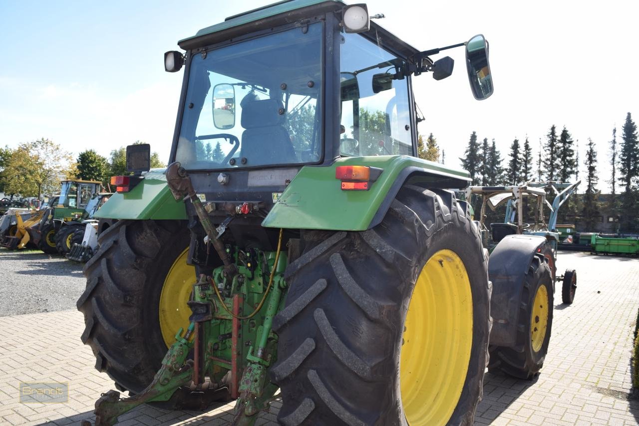
<svg viewBox="0 0 639 426"><path fill-rule="evenodd" d="M321 158L323 24L196 54L176 160L185 168Z"/></svg>

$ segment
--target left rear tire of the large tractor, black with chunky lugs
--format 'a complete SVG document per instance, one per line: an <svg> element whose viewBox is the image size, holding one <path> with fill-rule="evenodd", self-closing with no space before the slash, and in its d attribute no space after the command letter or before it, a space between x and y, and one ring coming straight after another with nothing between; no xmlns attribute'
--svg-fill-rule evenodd
<svg viewBox="0 0 639 426"><path fill-rule="evenodd" d="M183 221L118 221L100 234L99 244L84 265L86 290L77 301L86 326L81 339L93 349L98 371L109 374L119 390L138 393L160 369L171 344L165 337L170 332L163 334L160 326L163 288L170 280L195 280L194 267L185 261L189 231ZM183 307L176 300L183 300ZM188 323L187 300L188 294L173 298L178 323L180 315ZM171 322L174 315L164 318Z"/></svg>

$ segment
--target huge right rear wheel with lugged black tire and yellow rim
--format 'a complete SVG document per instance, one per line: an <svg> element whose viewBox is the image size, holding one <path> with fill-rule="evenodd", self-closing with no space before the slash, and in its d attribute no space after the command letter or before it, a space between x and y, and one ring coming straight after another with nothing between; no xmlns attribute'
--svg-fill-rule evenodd
<svg viewBox="0 0 639 426"><path fill-rule="evenodd" d="M304 231L270 378L283 425L471 425L488 355L488 257L448 191L404 186L364 232Z"/></svg>

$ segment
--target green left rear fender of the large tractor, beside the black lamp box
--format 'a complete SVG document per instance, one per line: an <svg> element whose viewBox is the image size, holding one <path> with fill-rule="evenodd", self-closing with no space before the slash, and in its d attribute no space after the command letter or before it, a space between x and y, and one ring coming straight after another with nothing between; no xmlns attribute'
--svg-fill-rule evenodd
<svg viewBox="0 0 639 426"><path fill-rule="evenodd" d="M144 174L128 193L115 193L93 217L103 219L187 219L183 200L176 201L166 184L164 168Z"/></svg>

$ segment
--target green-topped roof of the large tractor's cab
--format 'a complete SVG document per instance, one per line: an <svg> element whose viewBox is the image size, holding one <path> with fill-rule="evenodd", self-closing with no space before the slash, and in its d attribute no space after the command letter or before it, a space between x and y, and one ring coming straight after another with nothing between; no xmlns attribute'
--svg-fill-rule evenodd
<svg viewBox="0 0 639 426"><path fill-rule="evenodd" d="M212 45L248 33L254 33L275 26L289 24L303 18L311 18L322 13L340 11L346 6L341 0L287 0L268 4L263 8L247 11L226 18L224 22L197 31L196 35L178 41L184 50ZM366 34L366 33L364 33ZM369 36L383 40L384 45L398 54L410 58L419 50L371 20Z"/></svg>

